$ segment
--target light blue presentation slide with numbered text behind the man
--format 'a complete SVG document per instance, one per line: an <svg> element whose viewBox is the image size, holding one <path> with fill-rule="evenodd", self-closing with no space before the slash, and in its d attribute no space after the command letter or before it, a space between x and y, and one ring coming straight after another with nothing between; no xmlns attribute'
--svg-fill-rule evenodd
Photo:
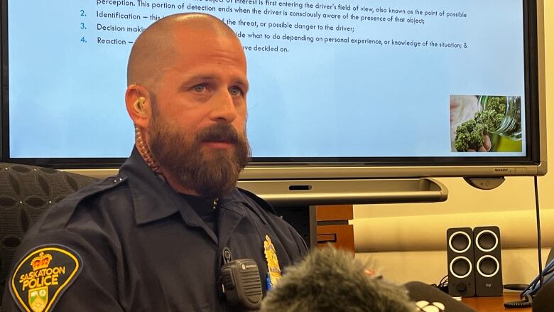
<svg viewBox="0 0 554 312"><path fill-rule="evenodd" d="M13 0L11 158L129 156L131 47L192 11L244 46L254 157L526 156L522 0Z"/></svg>

